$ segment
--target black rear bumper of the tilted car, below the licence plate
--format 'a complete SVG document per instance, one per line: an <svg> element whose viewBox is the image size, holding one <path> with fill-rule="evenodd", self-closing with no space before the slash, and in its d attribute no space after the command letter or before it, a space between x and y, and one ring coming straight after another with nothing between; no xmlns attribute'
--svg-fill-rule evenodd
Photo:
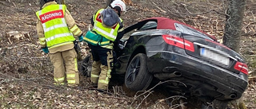
<svg viewBox="0 0 256 109"><path fill-rule="evenodd" d="M177 80L186 84L183 88L188 88L186 91L193 95L211 96L215 99L238 99L246 90L248 76L242 72L235 74L193 56L187 56L186 53L150 52L155 55L148 57L149 72L159 80Z"/></svg>

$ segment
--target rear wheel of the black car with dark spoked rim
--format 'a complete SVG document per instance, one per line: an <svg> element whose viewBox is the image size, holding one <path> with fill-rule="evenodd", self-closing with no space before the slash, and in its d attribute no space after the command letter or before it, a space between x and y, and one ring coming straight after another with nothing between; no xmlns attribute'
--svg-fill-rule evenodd
<svg viewBox="0 0 256 109"><path fill-rule="evenodd" d="M146 68L146 55L138 53L130 61L126 70L125 84L131 91L146 90L150 86L153 76Z"/></svg>

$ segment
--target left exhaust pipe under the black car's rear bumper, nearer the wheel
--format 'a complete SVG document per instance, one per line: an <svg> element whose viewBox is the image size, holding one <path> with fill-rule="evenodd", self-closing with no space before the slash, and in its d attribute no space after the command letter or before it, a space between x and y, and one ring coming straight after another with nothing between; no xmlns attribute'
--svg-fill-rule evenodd
<svg viewBox="0 0 256 109"><path fill-rule="evenodd" d="M154 74L154 76L156 78L158 78L159 80L167 80L169 78L182 76L182 73L175 71L175 72L171 72L171 73L158 73L158 74Z"/></svg>

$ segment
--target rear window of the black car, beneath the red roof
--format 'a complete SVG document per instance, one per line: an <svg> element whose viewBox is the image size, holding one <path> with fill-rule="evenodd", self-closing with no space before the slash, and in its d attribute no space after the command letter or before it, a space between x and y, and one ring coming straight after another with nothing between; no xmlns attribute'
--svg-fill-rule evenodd
<svg viewBox="0 0 256 109"><path fill-rule="evenodd" d="M193 36L202 37L202 38L206 38L206 39L211 39L206 34L201 33L196 29L192 29L189 26L178 24L178 23L175 23L174 25L175 25L176 30L178 30L182 33L186 33L186 34L190 34Z"/></svg>

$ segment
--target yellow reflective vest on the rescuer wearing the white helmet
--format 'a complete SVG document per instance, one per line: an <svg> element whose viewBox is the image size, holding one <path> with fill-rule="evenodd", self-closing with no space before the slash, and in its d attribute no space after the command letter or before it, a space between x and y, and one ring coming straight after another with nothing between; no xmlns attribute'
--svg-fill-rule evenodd
<svg viewBox="0 0 256 109"><path fill-rule="evenodd" d="M114 41L116 37L118 36L118 29L120 27L120 24L118 23L112 28L108 28L102 25L102 19L100 14L102 13L104 9L98 10L96 14L94 14L94 31L98 34L100 34L102 38L101 45L107 45L107 42L104 42L106 40ZM122 19L120 18L120 21L122 22Z"/></svg>

